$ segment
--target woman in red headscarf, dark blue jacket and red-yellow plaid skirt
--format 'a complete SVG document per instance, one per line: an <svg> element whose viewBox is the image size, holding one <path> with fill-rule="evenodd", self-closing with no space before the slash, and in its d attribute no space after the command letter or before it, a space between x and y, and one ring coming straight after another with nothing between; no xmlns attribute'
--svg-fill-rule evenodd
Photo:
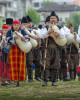
<svg viewBox="0 0 80 100"><path fill-rule="evenodd" d="M19 35L13 35L14 31L21 33L22 41L27 40L27 33L20 28L20 22L18 20L13 21L12 29L6 34L6 39L11 45L8 53L8 65L10 67L10 80L16 84L14 86L19 87L19 81L26 80L26 54L20 50L15 40L20 37Z"/></svg>

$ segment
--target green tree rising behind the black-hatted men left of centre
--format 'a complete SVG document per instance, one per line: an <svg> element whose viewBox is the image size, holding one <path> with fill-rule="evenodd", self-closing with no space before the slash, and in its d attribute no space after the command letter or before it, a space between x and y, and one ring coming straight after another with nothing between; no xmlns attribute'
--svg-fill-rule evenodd
<svg viewBox="0 0 80 100"><path fill-rule="evenodd" d="M33 24L38 25L40 23L40 15L32 8L29 8L26 12L26 16L30 16Z"/></svg>

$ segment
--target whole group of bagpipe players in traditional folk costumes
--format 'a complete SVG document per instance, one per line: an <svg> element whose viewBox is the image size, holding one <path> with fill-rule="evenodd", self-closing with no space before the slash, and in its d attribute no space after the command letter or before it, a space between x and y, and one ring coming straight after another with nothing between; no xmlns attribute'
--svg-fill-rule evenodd
<svg viewBox="0 0 80 100"><path fill-rule="evenodd" d="M30 16L24 16L21 22L12 18L6 19L0 33L1 85L5 86L14 81L14 87L19 87L20 81L26 81L27 76L28 82L33 82L34 78L43 80L42 86L47 86L48 81L52 82L52 86L57 86L58 79L76 79L80 36L74 32L72 23L68 28L60 25L59 17L54 11L44 24L43 27L33 27ZM68 43L68 40L72 42ZM76 41L77 45L73 41Z"/></svg>

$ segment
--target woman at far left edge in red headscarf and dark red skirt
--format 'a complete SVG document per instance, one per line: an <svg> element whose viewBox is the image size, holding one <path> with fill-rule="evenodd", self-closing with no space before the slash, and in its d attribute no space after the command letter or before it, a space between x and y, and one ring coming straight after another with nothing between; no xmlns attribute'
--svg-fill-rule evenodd
<svg viewBox="0 0 80 100"><path fill-rule="evenodd" d="M6 33L8 31L8 25L3 25L2 26L2 40L1 40L1 57L0 57L0 78L1 78L1 82L3 86L8 85L9 82L7 80L9 80L9 67L7 65L7 54L4 51L4 46L6 44Z"/></svg>

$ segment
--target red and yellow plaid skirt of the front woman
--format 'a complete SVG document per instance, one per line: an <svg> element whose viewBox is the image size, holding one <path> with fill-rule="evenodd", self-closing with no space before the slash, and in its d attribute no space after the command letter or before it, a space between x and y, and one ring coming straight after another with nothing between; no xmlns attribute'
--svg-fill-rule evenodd
<svg viewBox="0 0 80 100"><path fill-rule="evenodd" d="M17 45L11 46L8 64L10 67L10 80L26 80L26 55Z"/></svg>

